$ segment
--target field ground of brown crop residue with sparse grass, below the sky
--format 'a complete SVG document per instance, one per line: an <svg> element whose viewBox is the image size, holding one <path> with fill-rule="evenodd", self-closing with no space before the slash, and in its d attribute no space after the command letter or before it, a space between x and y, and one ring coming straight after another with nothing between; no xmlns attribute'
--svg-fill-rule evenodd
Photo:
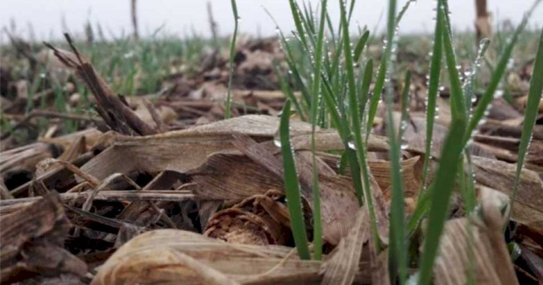
<svg viewBox="0 0 543 285"><path fill-rule="evenodd" d="M292 5L296 8L296 1ZM305 19L311 12L304 7L299 16ZM488 27L479 22L479 31L487 33ZM317 23L312 19L298 24L311 30ZM312 68L317 61L305 56L317 49L315 31L297 31L286 41L240 35L232 59L232 118L224 119L230 71L220 38L212 46L204 39L169 45L167 39L162 43L154 38L127 41L121 48L96 39L80 45L65 35L67 45L40 44L40 50L14 31L6 32L14 49L5 49L0 59L2 284L390 285L397 277L389 274L389 253L394 252L389 207L396 178L389 152L395 144L405 220L421 221L406 235L406 284L416 282L424 254L418 248L428 238L421 230L428 217L420 209L427 206L424 199L430 197L427 191L456 116L451 112L453 88L437 83L439 109L427 125L432 121L426 118L432 80L422 66L427 65L430 41L418 36L399 41L396 69L412 72L411 85L403 86L395 72L382 74L390 77L392 119L385 118L385 105L377 104L371 129L361 130L361 137L367 135L365 151L353 162L345 149L352 148L351 135L357 131L346 116L352 115L353 105L336 98L350 89L343 70L346 58L331 46L343 36L324 43L321 88L315 93ZM362 68L372 71L367 59L383 55L378 37L371 35L367 42L363 38L353 62L355 75L361 76L355 86L363 84ZM529 38L526 34L526 42ZM298 41L306 42L293 45ZM411 41L416 46L403 46ZM116 54L117 49L122 53ZM495 52L490 53L485 59L496 68ZM469 57L471 51L458 54ZM522 161L524 114L531 107L527 94L536 64L522 54L507 68L503 84L498 84L503 91L496 90L463 156L465 173L457 175L433 267L435 285L543 282L543 117L535 117L533 139ZM458 71L467 74L471 62L464 57L458 57ZM479 69L472 107L483 99L479 88L488 85L491 75L489 68ZM441 84L450 85L448 80ZM368 86L356 90L372 94L375 85L370 76ZM408 91L408 114L401 112L406 107L401 89ZM333 93L334 100L317 109L313 136L307 118L312 96L319 93L324 99ZM499 98L498 93L505 94ZM295 103L295 112L282 111L286 98ZM543 104L534 106L543 112ZM339 118L331 110L340 112ZM301 230L318 259L313 235L319 229L315 214L320 213L321 260L302 260L294 247L296 229L291 229L277 143L279 115L288 111ZM365 111L363 106L360 111ZM362 122L366 117L364 113ZM390 122L402 129L402 136L389 144L384 135ZM426 156L428 126L433 126L433 135ZM365 155L369 171L361 171L367 180L359 182L369 184L363 187L370 190L376 235L369 203L359 204L355 191L353 178L361 175L351 167L357 169L360 155ZM514 195L516 163L521 162ZM468 213L461 182L471 178L475 193L468 194L473 200L476 195L477 205ZM440 187L435 186L438 194Z"/></svg>

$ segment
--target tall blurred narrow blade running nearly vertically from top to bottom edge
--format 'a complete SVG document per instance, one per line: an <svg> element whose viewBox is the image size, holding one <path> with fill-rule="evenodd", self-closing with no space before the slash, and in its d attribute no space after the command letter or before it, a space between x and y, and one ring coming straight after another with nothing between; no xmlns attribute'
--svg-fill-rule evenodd
<svg viewBox="0 0 543 285"><path fill-rule="evenodd" d="M390 74L394 70L393 53L396 45L396 1L388 1L388 24L387 24L387 41L392 45L387 45L388 71L386 74L386 118L387 118L387 136L390 145L389 160L390 172L392 174L392 201L390 202L390 224L389 224L389 248L388 248L388 268L390 282L393 284L405 284L407 276L407 242L405 233L405 212L403 208L403 181L401 175L401 149L399 136L395 130L393 105L394 105L394 88L390 82ZM406 87L408 93L408 81L411 80L410 74L407 73ZM406 96L407 97L407 96ZM401 128L400 128L401 129Z"/></svg>

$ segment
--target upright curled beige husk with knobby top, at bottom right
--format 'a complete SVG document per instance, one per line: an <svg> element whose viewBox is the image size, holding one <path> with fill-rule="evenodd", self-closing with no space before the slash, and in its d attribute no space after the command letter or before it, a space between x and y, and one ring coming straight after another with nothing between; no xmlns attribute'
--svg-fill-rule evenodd
<svg viewBox="0 0 543 285"><path fill-rule="evenodd" d="M470 275L475 284L519 284L503 238L509 198L480 187L481 204L471 218L447 221L434 265L435 285L465 285Z"/></svg>

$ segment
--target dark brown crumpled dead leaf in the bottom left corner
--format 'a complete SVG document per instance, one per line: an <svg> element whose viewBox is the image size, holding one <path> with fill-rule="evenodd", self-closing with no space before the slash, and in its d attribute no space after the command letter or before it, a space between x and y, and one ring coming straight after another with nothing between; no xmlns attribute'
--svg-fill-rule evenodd
<svg viewBox="0 0 543 285"><path fill-rule="evenodd" d="M72 273L83 276L87 266L64 249L70 224L58 195L0 218L0 280L13 282L36 274Z"/></svg>

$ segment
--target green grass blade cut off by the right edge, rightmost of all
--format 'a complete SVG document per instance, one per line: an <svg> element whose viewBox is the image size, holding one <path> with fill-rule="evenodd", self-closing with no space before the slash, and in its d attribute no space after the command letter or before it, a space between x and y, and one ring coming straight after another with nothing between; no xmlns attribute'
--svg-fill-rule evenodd
<svg viewBox="0 0 543 285"><path fill-rule="evenodd" d="M534 62L534 71L532 74L532 79L530 80L530 88L528 90L528 102L526 104L526 111L524 115L524 123L522 124L522 135L520 138L519 145L519 158L517 159L516 164L516 176L515 176L515 187L513 188L513 197L512 201L515 201L516 193L519 188L519 179L520 173L522 171L522 166L526 158L526 153L530 147L530 142L532 141L533 129L535 125L535 120L539 112L539 103L541 102L541 95L543 92L543 29L541 29L541 36L539 37L538 52L535 56ZM513 208L513 204L511 207ZM513 210L509 211L510 213Z"/></svg>

